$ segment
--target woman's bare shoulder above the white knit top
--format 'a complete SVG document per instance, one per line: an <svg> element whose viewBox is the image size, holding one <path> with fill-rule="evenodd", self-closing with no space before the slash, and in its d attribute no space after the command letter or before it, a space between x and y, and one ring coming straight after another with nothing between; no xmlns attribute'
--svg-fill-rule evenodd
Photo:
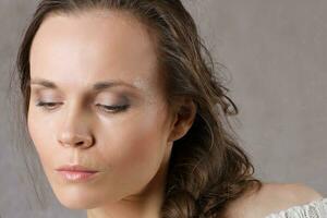
<svg viewBox="0 0 327 218"><path fill-rule="evenodd" d="M228 218L263 218L271 213L304 205L323 196L302 183L263 183L257 192L244 194L230 203Z"/></svg>

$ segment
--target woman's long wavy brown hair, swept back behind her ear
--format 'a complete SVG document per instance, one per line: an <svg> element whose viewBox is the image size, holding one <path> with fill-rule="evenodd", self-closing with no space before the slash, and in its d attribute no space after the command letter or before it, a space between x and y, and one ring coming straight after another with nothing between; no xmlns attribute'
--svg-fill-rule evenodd
<svg viewBox="0 0 327 218"><path fill-rule="evenodd" d="M72 14L93 9L132 14L155 36L159 73L167 102L191 97L197 107L189 132L174 142L169 162L162 218L225 217L228 203L258 190L254 167L239 146L228 117L238 107L219 75L223 69L204 46L194 20L180 0L41 0L17 53L20 90L26 120L29 104L29 50L41 22L50 13ZM227 122L226 122L227 121ZM258 189L253 189L258 187Z"/></svg>

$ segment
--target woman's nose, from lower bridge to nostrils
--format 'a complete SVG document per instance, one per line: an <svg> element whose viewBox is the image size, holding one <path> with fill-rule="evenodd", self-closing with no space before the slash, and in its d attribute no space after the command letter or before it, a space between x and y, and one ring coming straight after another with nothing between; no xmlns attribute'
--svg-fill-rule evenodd
<svg viewBox="0 0 327 218"><path fill-rule="evenodd" d="M64 147L86 149L94 145L94 137L89 131L87 117L76 112L71 112L64 118L57 138L59 144Z"/></svg>

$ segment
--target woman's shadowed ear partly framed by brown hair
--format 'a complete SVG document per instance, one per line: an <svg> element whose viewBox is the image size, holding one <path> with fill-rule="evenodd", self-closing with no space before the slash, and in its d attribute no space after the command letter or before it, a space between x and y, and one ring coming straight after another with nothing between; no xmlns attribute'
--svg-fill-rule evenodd
<svg viewBox="0 0 327 218"><path fill-rule="evenodd" d="M191 98L184 97L178 101L168 142L177 141L187 133L194 122L196 110L197 108Z"/></svg>

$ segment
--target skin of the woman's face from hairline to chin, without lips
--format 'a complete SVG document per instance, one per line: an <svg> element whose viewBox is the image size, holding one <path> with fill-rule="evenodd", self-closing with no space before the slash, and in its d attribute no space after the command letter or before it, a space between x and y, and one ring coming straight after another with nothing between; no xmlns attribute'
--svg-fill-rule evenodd
<svg viewBox="0 0 327 218"><path fill-rule="evenodd" d="M31 50L28 131L63 205L93 208L126 198L167 164L172 125L158 74L150 36L126 14L44 21ZM99 173L66 181L56 171L63 165Z"/></svg>

